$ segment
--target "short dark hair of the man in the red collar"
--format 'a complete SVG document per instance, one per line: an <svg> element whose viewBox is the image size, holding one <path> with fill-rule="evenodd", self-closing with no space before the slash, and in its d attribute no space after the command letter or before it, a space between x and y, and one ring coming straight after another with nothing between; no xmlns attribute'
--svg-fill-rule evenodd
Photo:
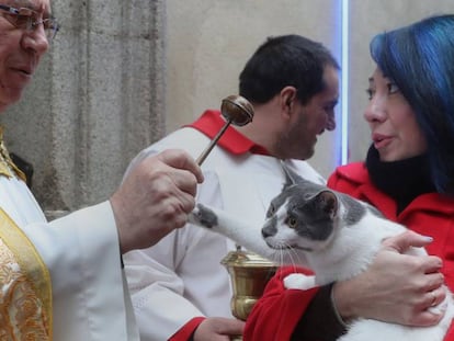
<svg viewBox="0 0 454 341"><path fill-rule="evenodd" d="M252 103L266 103L285 87L297 89L306 104L325 90L324 69L340 69L322 44L291 34L269 37L248 60L239 77L239 93Z"/></svg>

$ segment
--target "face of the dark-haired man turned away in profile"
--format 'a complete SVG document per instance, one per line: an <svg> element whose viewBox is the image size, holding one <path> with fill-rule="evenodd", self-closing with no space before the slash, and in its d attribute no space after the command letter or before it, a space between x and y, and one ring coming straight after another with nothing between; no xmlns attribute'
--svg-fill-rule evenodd
<svg viewBox="0 0 454 341"><path fill-rule="evenodd" d="M292 102L290 124L280 138L280 155L284 158L306 160L314 155L317 136L325 129L336 128L334 107L339 100L338 70L327 66L324 71L326 89L302 105L298 100Z"/></svg>

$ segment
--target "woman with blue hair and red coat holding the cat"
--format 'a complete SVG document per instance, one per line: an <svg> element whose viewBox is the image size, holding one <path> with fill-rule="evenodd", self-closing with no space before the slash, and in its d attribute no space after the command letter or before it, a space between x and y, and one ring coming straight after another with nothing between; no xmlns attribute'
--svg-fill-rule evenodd
<svg viewBox="0 0 454 341"><path fill-rule="evenodd" d="M378 34L371 56L364 118L372 145L365 162L339 167L328 185L413 232L384 241L367 271L326 287L286 289L295 269L283 268L248 318L245 340L336 340L357 317L416 327L443 317L428 308L445 298L443 282L454 289L454 15ZM431 255L401 254L411 246ZM454 340L454 328L444 340Z"/></svg>

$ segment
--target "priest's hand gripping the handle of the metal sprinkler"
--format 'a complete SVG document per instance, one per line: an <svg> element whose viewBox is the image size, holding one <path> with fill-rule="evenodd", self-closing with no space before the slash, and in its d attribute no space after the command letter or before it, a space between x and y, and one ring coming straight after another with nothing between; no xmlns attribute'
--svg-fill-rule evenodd
<svg viewBox="0 0 454 341"><path fill-rule="evenodd" d="M184 226L202 181L200 167L182 150L166 150L136 164L111 197L122 252L152 246Z"/></svg>

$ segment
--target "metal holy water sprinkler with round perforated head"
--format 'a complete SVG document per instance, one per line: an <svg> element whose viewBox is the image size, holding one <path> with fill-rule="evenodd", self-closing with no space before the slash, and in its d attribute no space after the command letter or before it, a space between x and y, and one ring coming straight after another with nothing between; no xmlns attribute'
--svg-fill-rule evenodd
<svg viewBox="0 0 454 341"><path fill-rule="evenodd" d="M216 145L220 136L223 136L230 124L240 127L247 125L249 122L252 122L253 107L247 99L232 94L223 100L223 103L220 105L220 114L226 120L226 123L197 158L196 162L198 166L205 161L213 147Z"/></svg>

